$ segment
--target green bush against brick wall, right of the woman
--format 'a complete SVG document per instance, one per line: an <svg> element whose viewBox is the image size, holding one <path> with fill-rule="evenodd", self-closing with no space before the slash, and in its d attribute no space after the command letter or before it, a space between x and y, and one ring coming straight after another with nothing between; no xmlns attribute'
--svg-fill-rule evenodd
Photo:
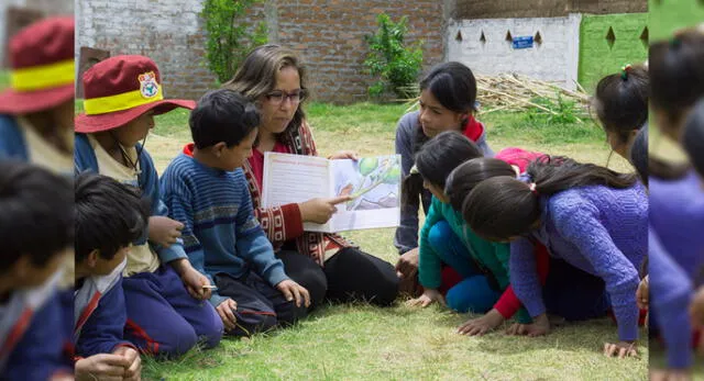
<svg viewBox="0 0 704 381"><path fill-rule="evenodd" d="M364 66L372 76L380 78L369 88L370 96L380 98L385 92L394 92L403 99L416 97L413 88L422 65L422 42L408 47L404 45L408 30L406 16L394 23L387 14L380 13L376 21L378 31L365 36L371 52Z"/></svg>

